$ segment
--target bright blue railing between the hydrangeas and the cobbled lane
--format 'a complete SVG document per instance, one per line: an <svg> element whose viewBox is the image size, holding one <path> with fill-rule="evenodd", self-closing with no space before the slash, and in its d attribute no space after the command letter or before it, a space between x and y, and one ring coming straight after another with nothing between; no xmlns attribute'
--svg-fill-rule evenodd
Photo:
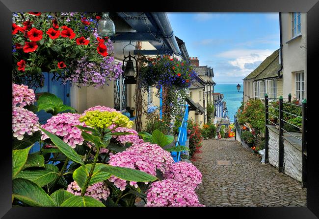
<svg viewBox="0 0 319 219"><path fill-rule="evenodd" d="M185 146L187 140L187 120L188 120L188 104L185 105L185 113L182 120L181 126L178 128L178 137L175 143L175 147L182 145ZM182 152L171 152L173 160L175 162L181 161L181 153L186 153L185 151Z"/></svg>

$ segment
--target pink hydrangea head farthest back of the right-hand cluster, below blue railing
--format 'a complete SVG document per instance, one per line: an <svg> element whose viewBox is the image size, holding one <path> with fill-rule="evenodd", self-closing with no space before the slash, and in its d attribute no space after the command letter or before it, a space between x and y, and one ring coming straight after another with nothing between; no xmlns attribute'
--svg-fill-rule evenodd
<svg viewBox="0 0 319 219"><path fill-rule="evenodd" d="M156 144L143 142L143 140L133 143L133 145L128 148L127 151L142 154L143 156L148 157L156 165L156 168L162 173L165 173L165 171L174 163L174 160L169 152L165 151Z"/></svg>

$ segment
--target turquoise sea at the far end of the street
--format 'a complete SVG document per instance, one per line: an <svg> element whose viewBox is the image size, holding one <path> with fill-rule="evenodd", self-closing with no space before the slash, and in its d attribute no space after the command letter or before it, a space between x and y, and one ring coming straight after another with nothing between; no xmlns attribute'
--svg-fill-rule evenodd
<svg viewBox="0 0 319 219"><path fill-rule="evenodd" d="M242 95L243 93L238 92L237 90L237 84L218 84L216 82L216 85L214 86L214 92L215 93L222 93L224 94L224 101L227 105L227 116L231 120L231 122L234 122L234 115L236 114L238 108L240 107L240 103L242 101ZM243 91L243 84L239 83L240 90Z"/></svg>

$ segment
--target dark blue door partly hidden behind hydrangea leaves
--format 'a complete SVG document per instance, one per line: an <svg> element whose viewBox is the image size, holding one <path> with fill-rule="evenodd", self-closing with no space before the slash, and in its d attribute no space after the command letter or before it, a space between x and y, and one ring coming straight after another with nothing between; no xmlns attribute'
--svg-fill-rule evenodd
<svg viewBox="0 0 319 219"><path fill-rule="evenodd" d="M35 91L35 94L41 95L42 93L48 92L53 93L58 98L61 98L63 101L63 104L70 106L70 85L63 85L61 80L59 81L52 81L53 73L43 73L44 74L44 82L42 88L37 88ZM36 105L36 103L35 103ZM44 110L41 110L36 113L39 117L39 123L45 124L48 119L52 117L52 114L45 112ZM34 153L40 150L40 144L37 142L34 144L34 146L31 148L30 153Z"/></svg>

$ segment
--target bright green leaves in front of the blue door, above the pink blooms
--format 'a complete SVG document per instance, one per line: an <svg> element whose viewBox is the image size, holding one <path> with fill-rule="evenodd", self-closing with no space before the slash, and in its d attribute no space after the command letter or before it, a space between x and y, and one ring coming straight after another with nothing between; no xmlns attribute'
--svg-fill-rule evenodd
<svg viewBox="0 0 319 219"><path fill-rule="evenodd" d="M38 101L38 111L44 110L52 115L56 115L59 112L70 110L71 112L77 112L74 108L64 105L63 101L52 93L43 93Z"/></svg>

